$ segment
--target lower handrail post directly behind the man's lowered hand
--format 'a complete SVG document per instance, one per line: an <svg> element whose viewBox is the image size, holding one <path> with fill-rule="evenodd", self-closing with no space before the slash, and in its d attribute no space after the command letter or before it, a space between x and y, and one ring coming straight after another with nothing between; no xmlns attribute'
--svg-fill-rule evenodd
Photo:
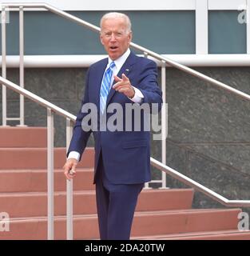
<svg viewBox="0 0 250 256"><path fill-rule="evenodd" d="M66 149L69 148L69 143L73 134L73 122L66 118ZM67 203L67 240L73 240L73 179L66 180L66 203Z"/></svg>

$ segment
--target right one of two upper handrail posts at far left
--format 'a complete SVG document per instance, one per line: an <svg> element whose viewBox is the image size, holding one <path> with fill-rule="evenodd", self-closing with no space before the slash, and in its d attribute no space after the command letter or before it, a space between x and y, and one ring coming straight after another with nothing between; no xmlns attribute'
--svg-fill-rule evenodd
<svg viewBox="0 0 250 256"><path fill-rule="evenodd" d="M23 7L19 9L19 74L20 74L20 86L24 88L24 37L23 37ZM20 126L24 126L24 97L20 94Z"/></svg>

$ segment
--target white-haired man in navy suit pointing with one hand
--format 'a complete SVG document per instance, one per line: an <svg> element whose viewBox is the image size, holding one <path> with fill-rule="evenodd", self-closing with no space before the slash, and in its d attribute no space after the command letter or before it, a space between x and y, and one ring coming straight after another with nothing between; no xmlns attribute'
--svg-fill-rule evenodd
<svg viewBox="0 0 250 256"><path fill-rule="evenodd" d="M105 14L101 18L101 43L109 58L89 67L85 96L81 106L92 103L97 106L97 130L85 130L83 108L77 114L73 137L67 153L64 170L70 179L76 174L77 163L93 132L95 164L93 182L96 184L97 214L101 239L129 239L137 198L144 183L150 181L150 134L145 130L141 114L141 130L126 130L128 122L135 125L137 119L128 121L127 105L159 104L162 94L157 85L155 62L137 57L129 50L132 39L129 17L121 13ZM114 62L114 64L112 63ZM112 64L112 68L110 68ZM101 91L107 82L106 72L112 70L109 92L105 99L105 113L101 111ZM109 79L108 79L109 80ZM122 122L120 130L101 130L100 120L107 123L112 115L109 106L121 106L117 113ZM143 112L143 110L142 110ZM106 114L106 118L101 118ZM133 115L132 115L133 117ZM137 117L136 117L137 118ZM84 203L84 202L82 202Z"/></svg>

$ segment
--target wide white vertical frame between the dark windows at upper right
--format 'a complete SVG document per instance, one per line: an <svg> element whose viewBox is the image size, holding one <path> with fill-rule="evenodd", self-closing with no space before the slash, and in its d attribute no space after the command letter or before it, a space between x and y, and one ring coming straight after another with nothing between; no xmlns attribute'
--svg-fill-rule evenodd
<svg viewBox="0 0 250 256"><path fill-rule="evenodd" d="M208 54L208 0L196 0L196 54Z"/></svg>

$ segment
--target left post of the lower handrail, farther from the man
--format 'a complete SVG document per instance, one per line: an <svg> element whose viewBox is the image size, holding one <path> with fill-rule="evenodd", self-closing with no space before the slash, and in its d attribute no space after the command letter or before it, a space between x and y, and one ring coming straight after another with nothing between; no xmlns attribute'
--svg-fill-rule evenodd
<svg viewBox="0 0 250 256"><path fill-rule="evenodd" d="M54 113L47 108L48 240L54 240Z"/></svg>

